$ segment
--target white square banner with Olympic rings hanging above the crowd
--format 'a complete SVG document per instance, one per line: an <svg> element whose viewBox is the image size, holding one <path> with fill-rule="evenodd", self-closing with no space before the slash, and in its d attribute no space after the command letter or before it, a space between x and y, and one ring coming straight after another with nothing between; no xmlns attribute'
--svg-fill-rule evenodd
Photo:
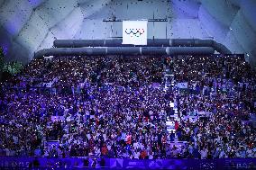
<svg viewBox="0 0 256 170"><path fill-rule="evenodd" d="M123 21L123 44L147 45L147 21Z"/></svg>

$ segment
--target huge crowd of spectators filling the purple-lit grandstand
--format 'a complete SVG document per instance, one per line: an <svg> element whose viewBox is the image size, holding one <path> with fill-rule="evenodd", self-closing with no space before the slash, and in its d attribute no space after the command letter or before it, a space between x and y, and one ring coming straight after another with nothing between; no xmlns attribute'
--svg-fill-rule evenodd
<svg viewBox="0 0 256 170"><path fill-rule="evenodd" d="M0 155L256 157L255 80L238 56L34 59L1 83Z"/></svg>

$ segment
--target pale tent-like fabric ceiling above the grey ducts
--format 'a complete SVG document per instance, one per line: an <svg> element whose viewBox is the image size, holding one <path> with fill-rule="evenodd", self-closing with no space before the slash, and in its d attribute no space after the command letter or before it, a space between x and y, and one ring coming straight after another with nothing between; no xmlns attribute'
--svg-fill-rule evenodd
<svg viewBox="0 0 256 170"><path fill-rule="evenodd" d="M112 39L122 22L149 22L149 38L214 39L234 53L256 57L255 0L0 0L0 45L9 59L27 62L55 39ZM247 55L246 55L247 56Z"/></svg>

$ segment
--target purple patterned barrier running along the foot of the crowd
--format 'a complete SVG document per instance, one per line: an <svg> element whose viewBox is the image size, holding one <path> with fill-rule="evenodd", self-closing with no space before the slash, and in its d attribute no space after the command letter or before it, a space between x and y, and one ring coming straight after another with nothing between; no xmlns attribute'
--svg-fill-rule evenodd
<svg viewBox="0 0 256 170"><path fill-rule="evenodd" d="M87 160L87 161L85 161ZM126 159L0 157L0 169L256 169L256 158L225 159Z"/></svg>

